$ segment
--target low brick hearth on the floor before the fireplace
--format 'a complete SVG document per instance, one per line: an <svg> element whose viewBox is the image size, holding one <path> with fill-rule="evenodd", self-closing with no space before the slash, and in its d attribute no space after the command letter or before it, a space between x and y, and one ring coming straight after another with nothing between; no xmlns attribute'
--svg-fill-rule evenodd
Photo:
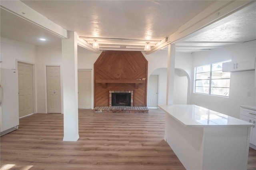
<svg viewBox="0 0 256 170"><path fill-rule="evenodd" d="M147 107L130 106L98 106L92 110L94 113L148 113Z"/></svg>

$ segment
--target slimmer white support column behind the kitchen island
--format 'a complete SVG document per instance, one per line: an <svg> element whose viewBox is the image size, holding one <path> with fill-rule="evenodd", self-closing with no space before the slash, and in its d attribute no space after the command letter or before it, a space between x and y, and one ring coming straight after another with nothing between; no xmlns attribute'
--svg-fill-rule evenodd
<svg viewBox="0 0 256 170"><path fill-rule="evenodd" d="M175 69L175 44L168 45L166 105L173 105Z"/></svg>

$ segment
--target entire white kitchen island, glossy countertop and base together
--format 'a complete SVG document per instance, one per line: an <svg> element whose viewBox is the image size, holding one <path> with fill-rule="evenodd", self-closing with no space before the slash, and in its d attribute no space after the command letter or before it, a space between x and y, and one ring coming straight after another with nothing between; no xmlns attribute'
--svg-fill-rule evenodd
<svg viewBox="0 0 256 170"><path fill-rule="evenodd" d="M246 170L254 125L197 105L160 105L164 140L188 170Z"/></svg>

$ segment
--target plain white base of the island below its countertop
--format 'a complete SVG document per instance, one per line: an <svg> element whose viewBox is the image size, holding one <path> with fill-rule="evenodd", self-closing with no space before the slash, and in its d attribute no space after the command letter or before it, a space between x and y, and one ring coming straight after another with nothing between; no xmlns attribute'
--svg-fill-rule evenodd
<svg viewBox="0 0 256 170"><path fill-rule="evenodd" d="M164 139L187 170L246 170L250 127L189 127L166 113Z"/></svg>

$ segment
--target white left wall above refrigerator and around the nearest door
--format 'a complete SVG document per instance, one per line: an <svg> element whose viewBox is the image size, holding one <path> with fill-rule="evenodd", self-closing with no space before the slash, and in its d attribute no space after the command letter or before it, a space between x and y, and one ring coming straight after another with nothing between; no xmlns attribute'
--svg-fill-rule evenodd
<svg viewBox="0 0 256 170"><path fill-rule="evenodd" d="M0 38L1 55L3 62L1 68L17 69L17 61L33 64L34 74L34 113L37 112L37 77L36 75L36 46L24 42L18 42L8 38Z"/></svg>

